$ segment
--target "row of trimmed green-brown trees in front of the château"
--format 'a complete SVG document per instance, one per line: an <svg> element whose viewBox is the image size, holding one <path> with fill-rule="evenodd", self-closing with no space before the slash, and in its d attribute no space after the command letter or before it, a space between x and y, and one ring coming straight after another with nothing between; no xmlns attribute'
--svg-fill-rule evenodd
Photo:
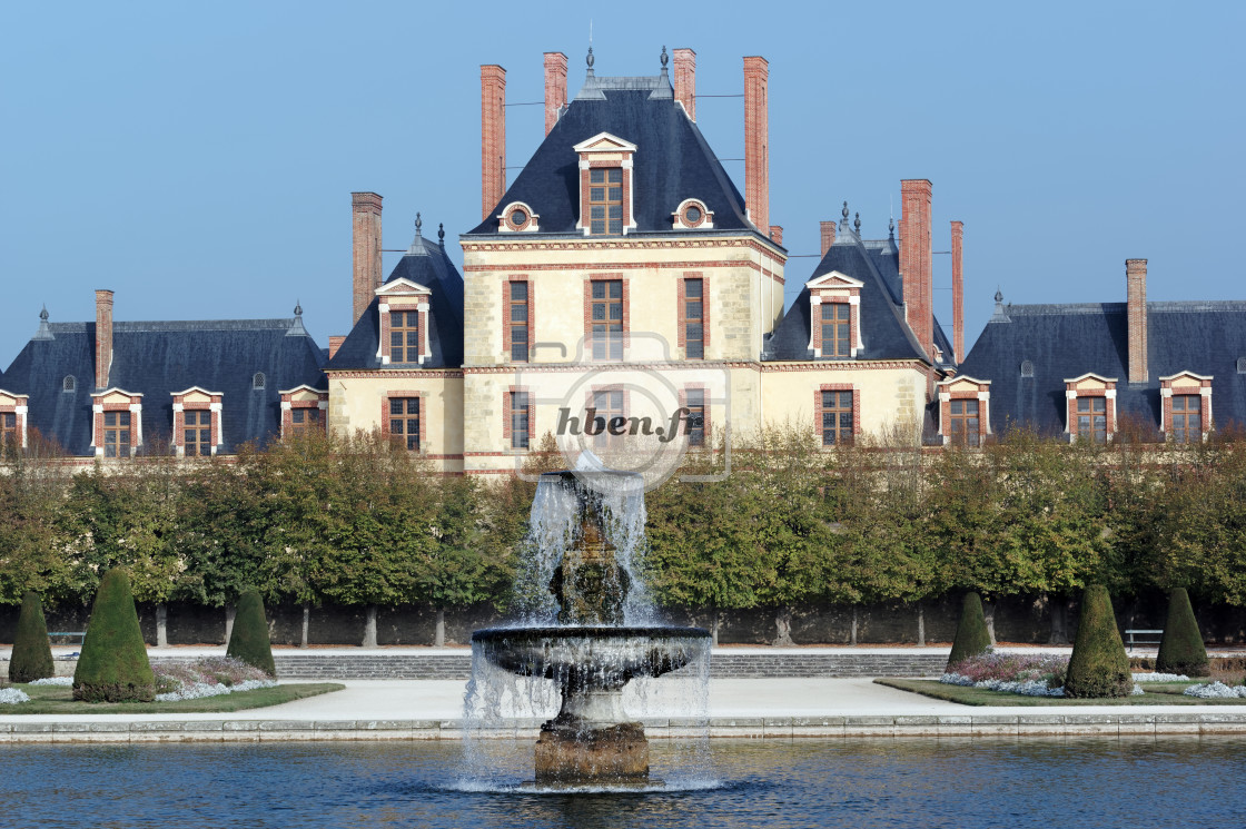
<svg viewBox="0 0 1246 829"><path fill-rule="evenodd" d="M552 450L552 438L542 444ZM721 450L689 472L728 472ZM556 467L535 453L532 471ZM148 458L67 477L55 461L0 475L0 603L34 590L86 603L123 566L141 602L437 610L505 606L532 485L429 472L379 436L308 438L234 462ZM1246 605L1246 441L1069 446L1022 430L981 450L817 451L775 429L715 482L647 496L648 577L709 610L1116 596L1186 587ZM373 627L373 630L375 630ZM442 630L439 626L439 631Z"/></svg>

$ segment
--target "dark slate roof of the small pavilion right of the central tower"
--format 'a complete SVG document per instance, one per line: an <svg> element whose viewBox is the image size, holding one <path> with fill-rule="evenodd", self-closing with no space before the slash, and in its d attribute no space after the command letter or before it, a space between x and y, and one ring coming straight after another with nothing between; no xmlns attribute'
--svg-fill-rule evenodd
<svg viewBox="0 0 1246 829"><path fill-rule="evenodd" d="M840 228L835 244L827 249L810 282L830 273L840 273L861 280L861 344L857 360L925 360L917 338L905 322L905 307L900 284L900 251L893 239L862 242L846 226ZM784 318L775 327L774 337L765 348L764 360L812 360L810 337L809 288L801 288ZM943 350L941 367L951 368L952 349L947 337L934 320L934 342ZM821 358L842 360L844 358Z"/></svg>

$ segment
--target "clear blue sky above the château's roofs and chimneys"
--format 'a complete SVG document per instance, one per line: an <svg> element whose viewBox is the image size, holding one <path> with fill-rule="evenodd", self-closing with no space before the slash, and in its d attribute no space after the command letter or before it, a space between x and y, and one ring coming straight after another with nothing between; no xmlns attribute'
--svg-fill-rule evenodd
<svg viewBox="0 0 1246 829"><path fill-rule="evenodd" d="M269 318L350 325L350 192L385 197L384 247L415 212L447 239L480 219L481 64L511 102L542 52L583 80L655 75L697 51L698 92L770 61L771 222L792 254L849 201L886 234L901 178L933 182L934 249L964 231L966 338L1006 300L1246 299L1246 4L9 4L0 12L0 367L52 322ZM596 11L594 11L596 10ZM724 158L741 98L703 98ZM543 132L508 108L507 161ZM744 165L725 162L744 189ZM518 171L511 171L511 177ZM898 217L897 217L898 218ZM456 244L452 257L461 261ZM386 254L386 272L399 254ZM951 330L949 257L936 313ZM789 302L816 259L787 266Z"/></svg>

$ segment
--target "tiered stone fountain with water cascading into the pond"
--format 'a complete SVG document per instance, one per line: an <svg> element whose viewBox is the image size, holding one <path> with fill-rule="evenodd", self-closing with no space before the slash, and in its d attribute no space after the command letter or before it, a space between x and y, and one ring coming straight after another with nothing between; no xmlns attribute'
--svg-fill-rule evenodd
<svg viewBox="0 0 1246 829"><path fill-rule="evenodd" d="M652 607L634 572L644 544L643 479L547 472L531 525L517 596L537 623L472 635L468 709L503 696L488 688L486 666L551 681L562 699L541 727L536 785L652 784L649 743L643 724L624 711L624 687L685 666L699 667L704 682L709 632L644 623L653 621ZM525 595L525 583L541 590Z"/></svg>

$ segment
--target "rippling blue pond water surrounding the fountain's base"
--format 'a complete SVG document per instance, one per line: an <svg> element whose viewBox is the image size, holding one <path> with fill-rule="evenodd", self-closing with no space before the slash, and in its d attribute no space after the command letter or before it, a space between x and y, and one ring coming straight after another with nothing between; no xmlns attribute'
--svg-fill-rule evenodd
<svg viewBox="0 0 1246 829"><path fill-rule="evenodd" d="M667 789L568 795L467 790L450 742L7 745L0 824L1139 829L1246 814L1232 738L711 740L713 774L683 777L663 765L680 752L652 748ZM513 747L511 783L531 750Z"/></svg>

